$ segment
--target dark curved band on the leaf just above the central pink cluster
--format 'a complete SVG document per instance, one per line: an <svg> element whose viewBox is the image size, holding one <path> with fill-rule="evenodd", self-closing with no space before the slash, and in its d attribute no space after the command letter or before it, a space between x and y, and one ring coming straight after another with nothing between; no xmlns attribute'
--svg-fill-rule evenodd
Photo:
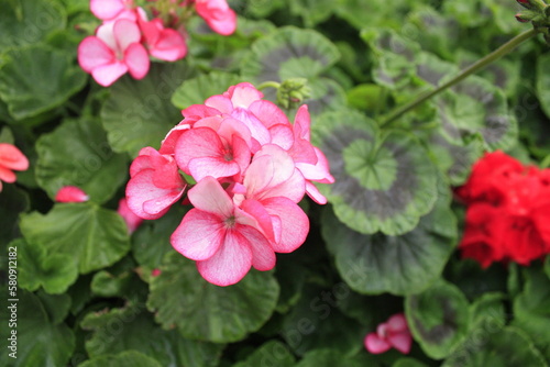
<svg viewBox="0 0 550 367"><path fill-rule="evenodd" d="M279 80L278 71L280 65L288 59L304 56L320 62L322 65L328 64L327 57L320 54L312 45L293 45L292 43L287 43L284 47L277 47L262 57L262 70L258 75L260 81Z"/></svg>

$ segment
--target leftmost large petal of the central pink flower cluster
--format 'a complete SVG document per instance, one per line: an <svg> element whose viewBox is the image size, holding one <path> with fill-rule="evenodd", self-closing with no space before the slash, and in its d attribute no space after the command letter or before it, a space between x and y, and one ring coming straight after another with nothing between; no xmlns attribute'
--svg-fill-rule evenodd
<svg viewBox="0 0 550 367"><path fill-rule="evenodd" d="M128 207L143 219L157 219L164 215L174 202L182 198L184 188L160 189L153 185L155 171L144 169L128 181ZM146 209L145 209L146 207Z"/></svg>

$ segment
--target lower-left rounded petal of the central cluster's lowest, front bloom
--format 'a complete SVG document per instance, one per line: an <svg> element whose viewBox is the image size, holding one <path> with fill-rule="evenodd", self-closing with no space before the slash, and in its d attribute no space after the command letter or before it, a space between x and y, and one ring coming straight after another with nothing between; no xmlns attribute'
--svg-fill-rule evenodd
<svg viewBox="0 0 550 367"><path fill-rule="evenodd" d="M215 214L191 209L170 236L174 249L191 260L206 260L220 248L226 237L222 220Z"/></svg>

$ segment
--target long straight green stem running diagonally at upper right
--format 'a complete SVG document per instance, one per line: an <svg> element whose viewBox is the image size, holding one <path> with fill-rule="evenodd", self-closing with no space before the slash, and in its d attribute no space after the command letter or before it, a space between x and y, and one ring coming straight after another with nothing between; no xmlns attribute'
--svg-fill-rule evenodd
<svg viewBox="0 0 550 367"><path fill-rule="evenodd" d="M386 119L381 122L381 126L397 120L403 114L415 109L420 103L427 101L428 99L432 98L433 96L438 94L439 92L441 92L441 91L454 86L455 84L462 81L463 79L465 79L470 75L483 69L487 65L492 64L493 62L497 60L502 56L512 52L514 48L519 46L525 41L537 35L539 32L540 31L538 31L537 29L531 29L531 30L526 31L521 34L518 34L517 36L515 36L514 38L512 38L510 41L508 41L507 43L505 43L504 45L502 45L501 47L498 47L497 49L495 49L491 54L486 55L482 59L479 59L476 63L472 64L466 69L462 70L461 74L459 74L458 76L455 76L454 78L452 78L448 82L439 86L437 89L421 93L415 100L413 100L404 105L400 105L397 109L389 112L389 114L386 116Z"/></svg>

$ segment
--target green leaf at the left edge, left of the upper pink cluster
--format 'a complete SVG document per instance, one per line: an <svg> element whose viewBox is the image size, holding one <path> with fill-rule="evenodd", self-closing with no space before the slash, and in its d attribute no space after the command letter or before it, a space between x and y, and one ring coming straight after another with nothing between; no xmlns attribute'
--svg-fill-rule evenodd
<svg viewBox="0 0 550 367"><path fill-rule="evenodd" d="M15 120L63 104L86 85L74 55L44 45L11 48L0 64L0 98Z"/></svg>

